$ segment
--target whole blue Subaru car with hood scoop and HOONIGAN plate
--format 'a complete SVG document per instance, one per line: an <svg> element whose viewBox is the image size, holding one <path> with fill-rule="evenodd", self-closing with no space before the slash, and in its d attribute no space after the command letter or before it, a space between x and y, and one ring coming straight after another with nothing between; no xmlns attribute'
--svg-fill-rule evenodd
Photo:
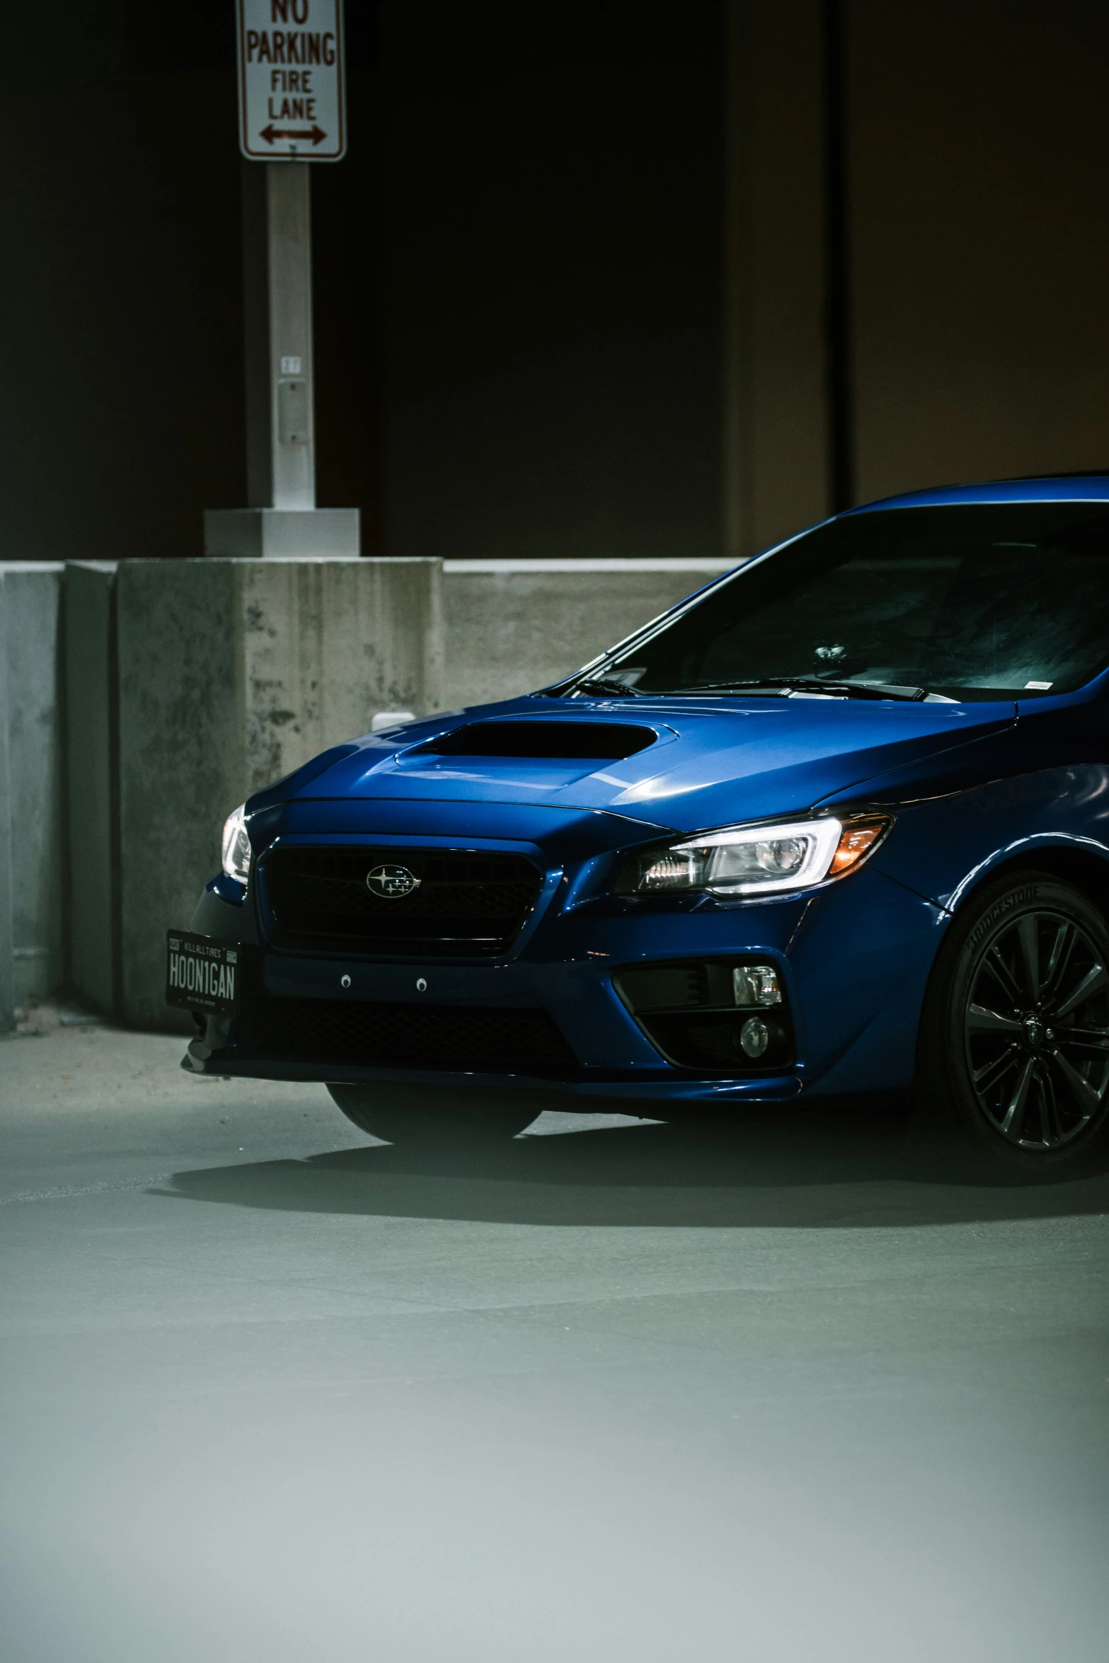
<svg viewBox="0 0 1109 1663"><path fill-rule="evenodd" d="M391 1141L914 1093L1072 1174L1109 1116L1107 665L1109 476L840 514L236 810L170 936L185 1064Z"/></svg>

